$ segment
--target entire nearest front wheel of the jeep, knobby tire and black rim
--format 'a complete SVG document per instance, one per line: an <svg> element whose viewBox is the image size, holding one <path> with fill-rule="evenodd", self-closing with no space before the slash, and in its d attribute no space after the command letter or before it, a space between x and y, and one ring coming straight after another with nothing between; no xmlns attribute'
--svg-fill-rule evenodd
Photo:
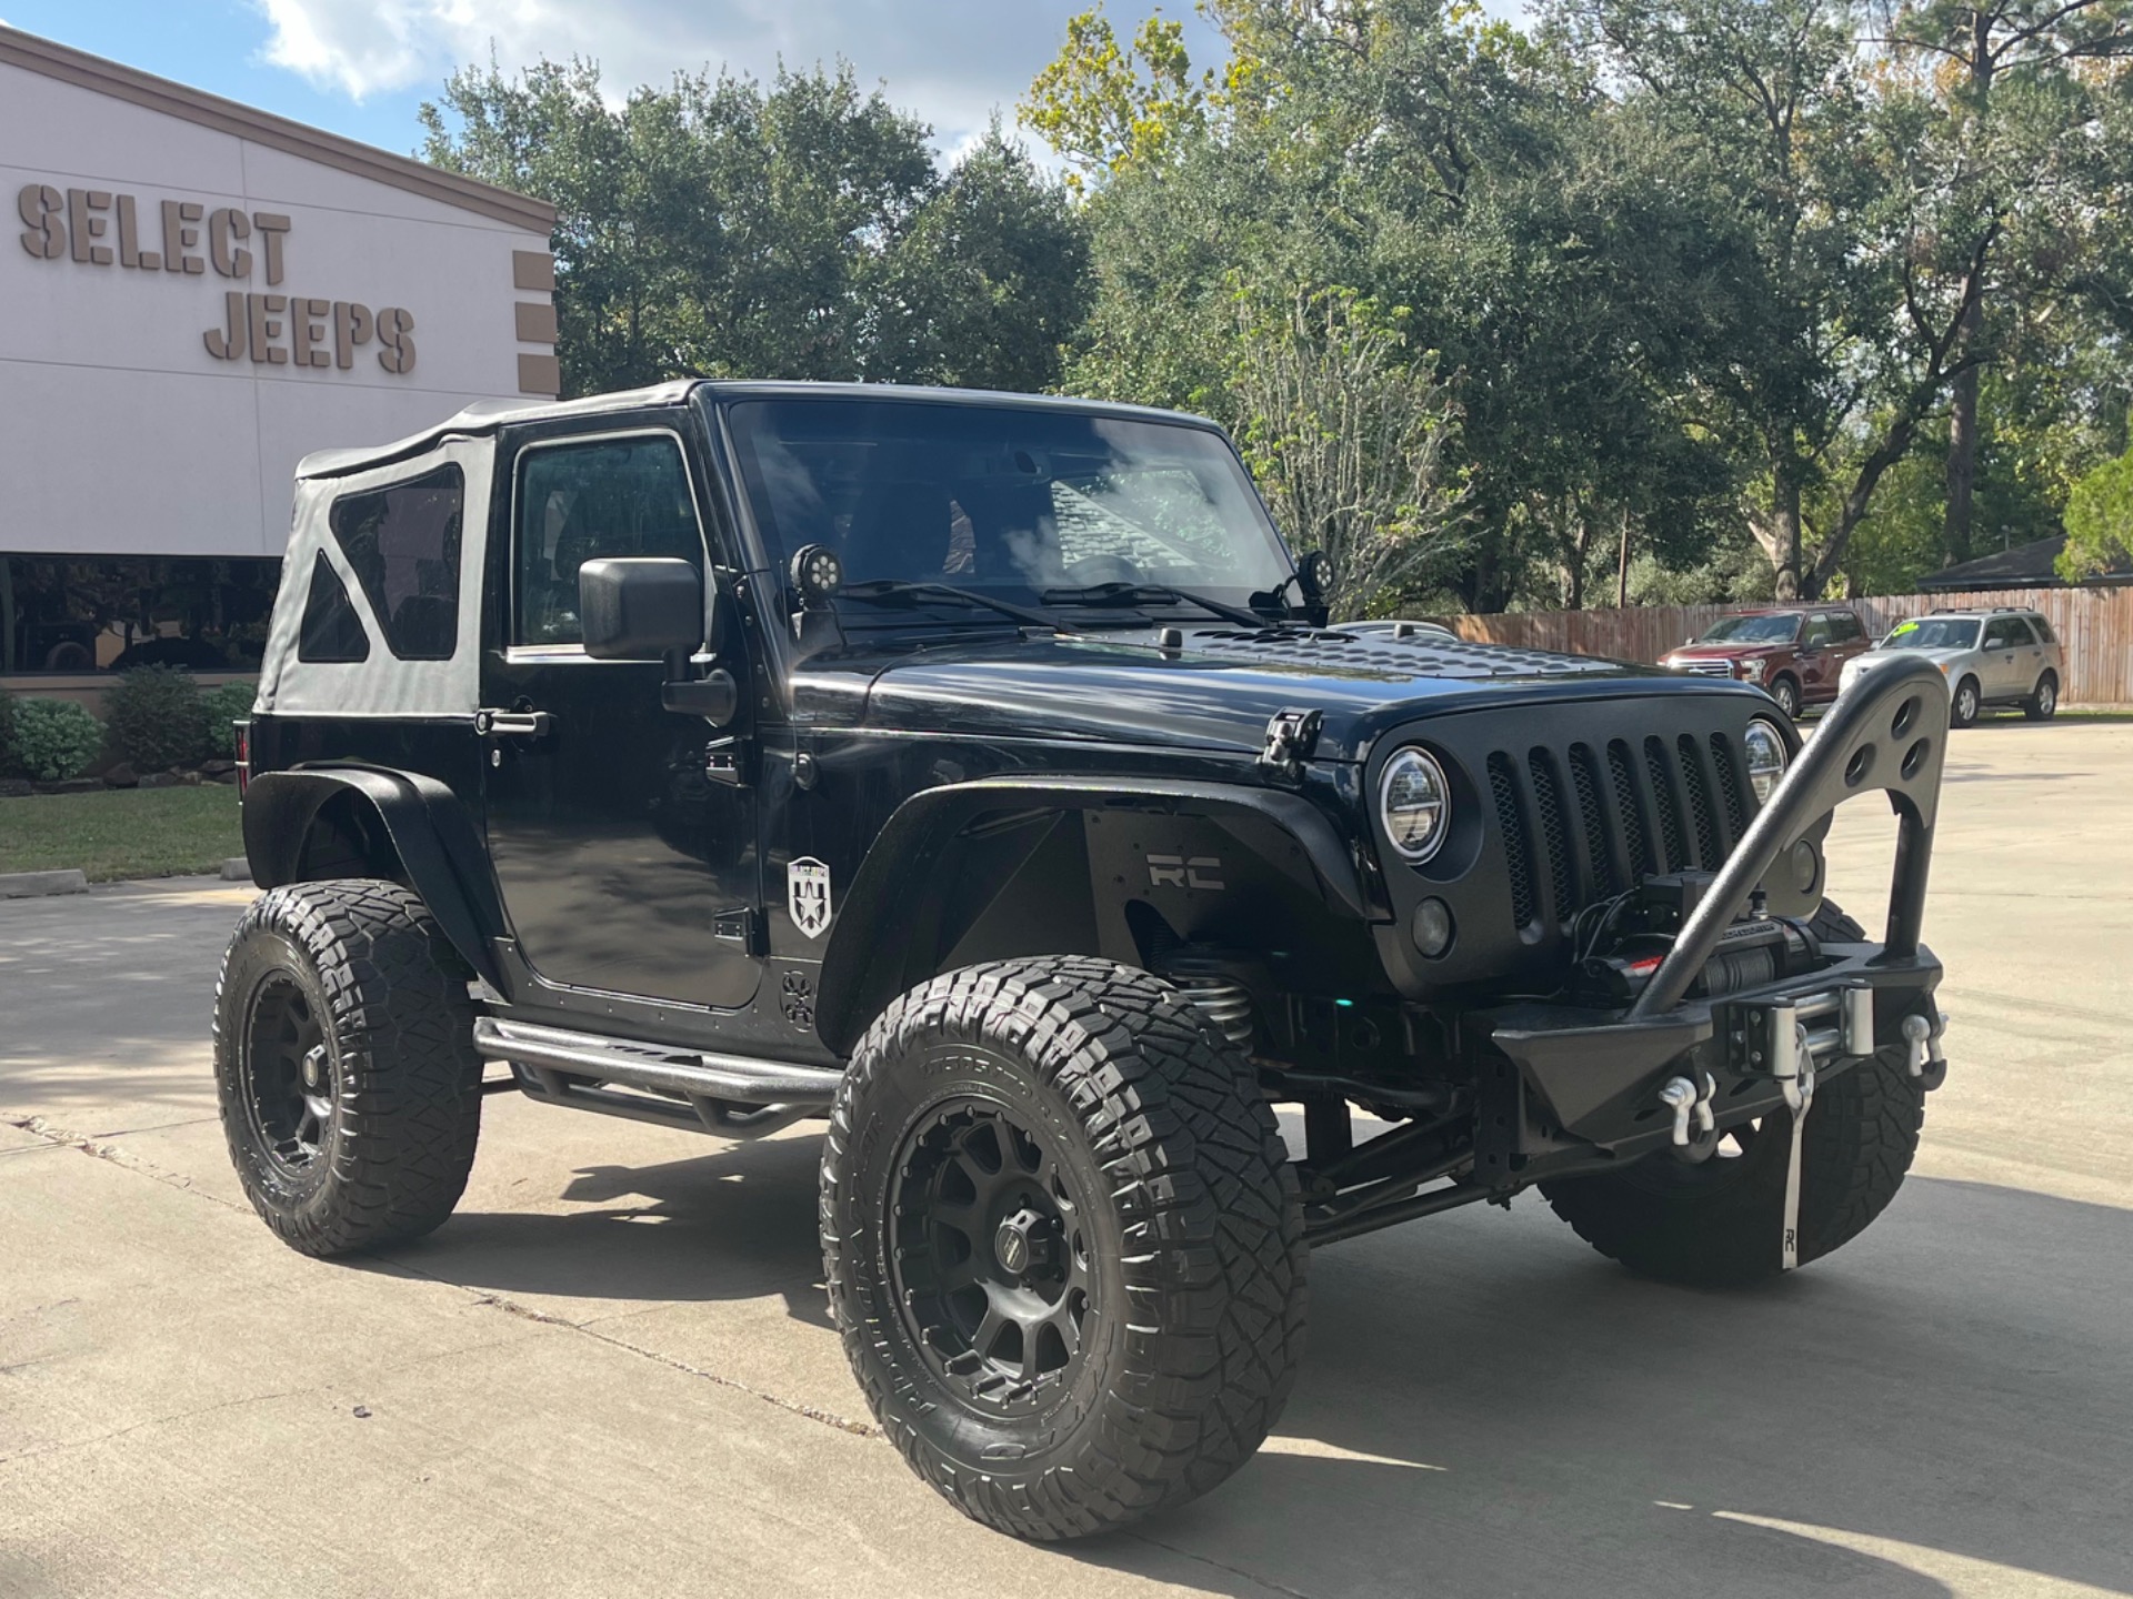
<svg viewBox="0 0 2133 1599"><path fill-rule="evenodd" d="M868 1028L821 1164L830 1309L911 1467L1017 1537L1222 1482L1303 1352L1303 1222L1250 1062L1148 972L973 966Z"/></svg>

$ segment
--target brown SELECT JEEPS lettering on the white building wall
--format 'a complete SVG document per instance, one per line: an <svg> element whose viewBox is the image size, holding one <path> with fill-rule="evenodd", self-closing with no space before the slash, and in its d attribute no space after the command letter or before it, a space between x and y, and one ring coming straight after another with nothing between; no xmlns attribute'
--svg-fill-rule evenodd
<svg viewBox="0 0 2133 1599"><path fill-rule="evenodd" d="M198 200L139 200L111 190L60 190L26 183L15 196L26 230L21 247L36 260L119 266L137 273L179 273L264 281L273 290L288 269L290 220L275 211L209 211ZM414 371L414 316L397 305L316 301L303 294L226 290L222 322L201 335L215 360L262 367L339 367L375 354L395 375Z"/></svg>

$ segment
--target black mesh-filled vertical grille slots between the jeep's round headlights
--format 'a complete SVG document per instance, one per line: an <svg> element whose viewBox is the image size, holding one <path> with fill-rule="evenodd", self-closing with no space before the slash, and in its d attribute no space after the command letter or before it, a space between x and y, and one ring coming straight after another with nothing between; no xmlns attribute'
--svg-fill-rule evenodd
<svg viewBox="0 0 2133 1599"><path fill-rule="evenodd" d="M1747 831L1747 778L1723 733L1647 738L1642 748L1617 738L1606 744L1604 774L1600 761L1585 742L1561 753L1534 744L1489 755L1510 915L1521 932L1536 921L1568 927L1585 906L1655 872L1715 872Z"/></svg>

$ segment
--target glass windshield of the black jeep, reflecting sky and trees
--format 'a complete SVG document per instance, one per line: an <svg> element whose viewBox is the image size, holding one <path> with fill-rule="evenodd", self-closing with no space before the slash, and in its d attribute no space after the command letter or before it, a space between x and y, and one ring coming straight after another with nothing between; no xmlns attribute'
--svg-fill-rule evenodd
<svg viewBox="0 0 2133 1599"><path fill-rule="evenodd" d="M1244 605L1293 571L1237 456L1205 429L898 399L738 401L727 420L772 561L825 544L845 584L1026 601L1167 584Z"/></svg>

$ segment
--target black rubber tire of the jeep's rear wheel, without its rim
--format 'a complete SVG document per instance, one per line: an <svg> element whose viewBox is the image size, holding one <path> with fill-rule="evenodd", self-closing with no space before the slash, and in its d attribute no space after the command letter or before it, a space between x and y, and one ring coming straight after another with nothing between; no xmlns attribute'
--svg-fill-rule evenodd
<svg viewBox="0 0 2133 1599"><path fill-rule="evenodd" d="M284 1243L339 1256L416 1239L467 1188L482 1128L467 970L410 889L301 883L245 910L215 985L215 1092L230 1160ZM316 1153L271 1147L247 1083L267 996L301 998L331 1070Z"/></svg>

